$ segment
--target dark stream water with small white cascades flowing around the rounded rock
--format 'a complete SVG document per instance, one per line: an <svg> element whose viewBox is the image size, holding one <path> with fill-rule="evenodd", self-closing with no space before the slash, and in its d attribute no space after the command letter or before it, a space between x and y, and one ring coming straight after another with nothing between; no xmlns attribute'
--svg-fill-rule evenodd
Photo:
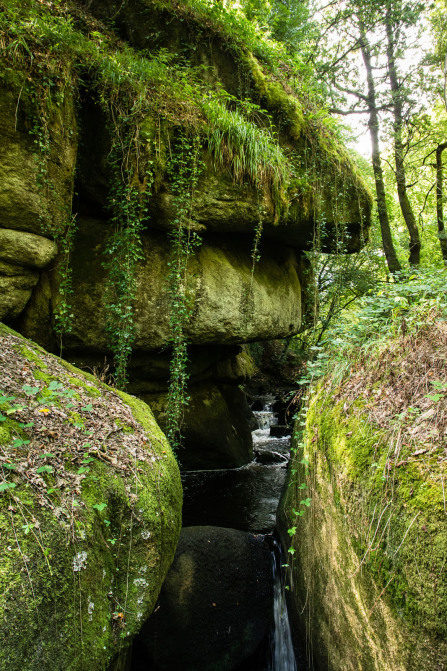
<svg viewBox="0 0 447 671"><path fill-rule="evenodd" d="M271 550L272 582L269 580L268 563L265 572L259 573L261 580L266 582L258 589L265 590L265 586L270 585L273 596L272 611L265 613L265 634L251 656L244 660L242 666L234 667L234 671L297 671L284 591L282 565L285 560L280 543L274 536L276 510L289 460L290 438L270 436L270 426L277 424L272 411L274 399L266 397L263 400L263 406L259 401L257 404L262 410L254 412L258 428L252 433L254 459L251 463L236 469L187 471L182 474L183 526L209 525L248 531ZM266 559L268 562L268 551ZM157 628L155 630L158 631ZM193 631L194 637L197 635L194 627ZM205 630L200 632L201 636L206 636ZM213 629L211 635L215 634ZM172 645L172 640L160 640L158 645ZM153 671L158 666L153 665L151 660L144 642L137 638L131 652L131 665L126 668ZM306 669L301 658L298 668L299 671Z"/></svg>

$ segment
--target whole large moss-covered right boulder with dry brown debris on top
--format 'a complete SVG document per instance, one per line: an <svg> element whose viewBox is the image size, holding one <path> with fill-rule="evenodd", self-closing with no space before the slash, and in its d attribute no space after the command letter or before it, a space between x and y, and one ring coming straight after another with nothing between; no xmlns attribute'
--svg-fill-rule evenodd
<svg viewBox="0 0 447 671"><path fill-rule="evenodd" d="M280 526L319 671L447 669L445 343L438 322L335 372L296 428Z"/></svg>

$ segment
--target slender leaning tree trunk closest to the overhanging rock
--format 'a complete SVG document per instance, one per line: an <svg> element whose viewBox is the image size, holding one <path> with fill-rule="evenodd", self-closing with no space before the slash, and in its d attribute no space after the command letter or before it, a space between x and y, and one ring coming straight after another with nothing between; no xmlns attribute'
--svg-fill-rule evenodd
<svg viewBox="0 0 447 671"><path fill-rule="evenodd" d="M377 211L379 215L380 231L382 234L382 246L383 251L385 252L385 258L390 273L396 273L401 271L402 267L399 263L396 250L394 248L390 221L388 217L388 208L386 205L385 183L383 180L382 161L380 158L379 146L379 115L377 114L376 91L372 74L371 49L361 20L359 20L359 23L361 31L360 45L368 82L368 128L371 137L371 157L374 170L374 181L376 185Z"/></svg>

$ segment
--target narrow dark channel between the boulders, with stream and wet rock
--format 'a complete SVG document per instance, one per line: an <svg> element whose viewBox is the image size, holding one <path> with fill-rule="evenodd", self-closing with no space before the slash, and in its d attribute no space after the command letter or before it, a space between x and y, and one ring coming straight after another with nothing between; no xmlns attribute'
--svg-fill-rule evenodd
<svg viewBox="0 0 447 671"><path fill-rule="evenodd" d="M275 537L290 438L270 435L273 402L256 399L251 463L183 473L180 542L131 671L297 671Z"/></svg>

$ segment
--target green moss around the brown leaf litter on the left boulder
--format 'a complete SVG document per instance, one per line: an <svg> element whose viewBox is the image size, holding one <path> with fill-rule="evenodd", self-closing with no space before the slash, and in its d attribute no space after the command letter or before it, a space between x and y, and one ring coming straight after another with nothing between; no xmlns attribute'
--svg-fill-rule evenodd
<svg viewBox="0 0 447 671"><path fill-rule="evenodd" d="M17 334L0 327L0 335L2 346L16 346L8 338ZM29 357L30 368L49 363L50 358L49 379L60 379L64 389L71 384L79 389L80 380L85 391L95 384L92 376L34 345L26 343L19 351ZM61 366L60 377L56 364ZM101 383L94 390L95 398L112 391ZM1 668L18 671L26 660L27 671L105 671L155 604L180 530L180 477L149 408L120 396L124 403L130 402L147 436L148 458L132 462L135 472L93 458L67 506L63 493L69 474L77 473L67 451L58 477L43 474L45 489L40 491L19 471L11 471L17 486L0 494ZM73 419L82 417L73 413ZM8 446L12 458L10 438L12 431L16 434L16 424L9 418L0 424L0 442ZM20 457L17 450L15 456ZM51 495L46 493L49 487L56 489ZM54 509L42 505L42 495ZM94 508L101 503L106 504L103 511ZM126 614L125 623L118 612Z"/></svg>

